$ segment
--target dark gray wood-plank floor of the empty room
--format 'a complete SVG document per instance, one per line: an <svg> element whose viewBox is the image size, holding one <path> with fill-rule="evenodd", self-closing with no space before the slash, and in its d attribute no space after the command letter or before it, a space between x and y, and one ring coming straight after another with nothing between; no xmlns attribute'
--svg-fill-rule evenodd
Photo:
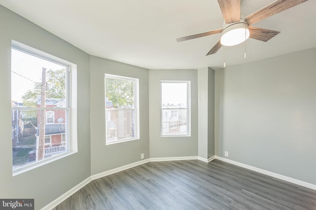
<svg viewBox="0 0 316 210"><path fill-rule="evenodd" d="M150 162L91 181L54 210L316 210L316 191L219 160Z"/></svg>

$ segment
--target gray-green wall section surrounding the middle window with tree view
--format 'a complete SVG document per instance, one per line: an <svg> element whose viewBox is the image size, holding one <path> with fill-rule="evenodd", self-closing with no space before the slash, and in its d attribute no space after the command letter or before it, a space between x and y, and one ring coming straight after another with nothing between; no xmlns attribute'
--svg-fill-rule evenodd
<svg viewBox="0 0 316 210"><path fill-rule="evenodd" d="M148 70L91 56L91 175L149 158ZM140 140L105 145L104 74L139 79Z"/></svg>

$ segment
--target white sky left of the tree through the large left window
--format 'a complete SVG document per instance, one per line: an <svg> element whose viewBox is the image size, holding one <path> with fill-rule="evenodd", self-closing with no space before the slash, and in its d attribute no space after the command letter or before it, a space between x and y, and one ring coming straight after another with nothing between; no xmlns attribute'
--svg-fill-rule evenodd
<svg viewBox="0 0 316 210"><path fill-rule="evenodd" d="M60 70L65 67L43 60L41 58L38 58L32 55L29 55L27 53L23 53L21 51L12 49L11 51L11 100L12 101L22 102L21 97L24 95L25 92L27 92L30 89L33 89L34 82L41 82L42 68L46 68L46 70L50 70L50 69Z"/></svg>

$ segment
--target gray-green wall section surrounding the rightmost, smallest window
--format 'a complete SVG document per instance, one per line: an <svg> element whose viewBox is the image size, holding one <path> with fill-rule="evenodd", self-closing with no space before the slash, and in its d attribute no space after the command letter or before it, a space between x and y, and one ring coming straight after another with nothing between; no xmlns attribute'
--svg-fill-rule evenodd
<svg viewBox="0 0 316 210"><path fill-rule="evenodd" d="M160 80L191 81L191 137L160 137ZM150 157L197 156L197 70L149 71Z"/></svg>

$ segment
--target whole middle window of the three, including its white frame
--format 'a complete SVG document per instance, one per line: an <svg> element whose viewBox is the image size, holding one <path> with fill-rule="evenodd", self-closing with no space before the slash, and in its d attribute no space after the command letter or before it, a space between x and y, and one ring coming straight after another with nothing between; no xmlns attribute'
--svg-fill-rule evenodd
<svg viewBox="0 0 316 210"><path fill-rule="evenodd" d="M106 144L139 139L138 79L105 74Z"/></svg>

